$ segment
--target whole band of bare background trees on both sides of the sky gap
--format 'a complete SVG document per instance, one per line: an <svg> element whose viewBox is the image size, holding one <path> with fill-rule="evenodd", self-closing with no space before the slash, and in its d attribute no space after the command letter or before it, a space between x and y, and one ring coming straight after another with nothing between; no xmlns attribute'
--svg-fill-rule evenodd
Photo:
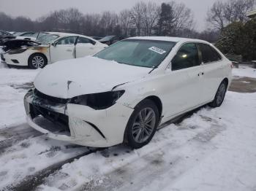
<svg viewBox="0 0 256 191"><path fill-rule="evenodd" d="M256 0L217 0L206 15L205 31L195 30L195 17L183 3L162 4L140 1L121 12L83 14L78 9L61 9L31 20L0 12L0 28L6 31L63 31L87 36L179 36L217 42L225 26L246 23L246 12ZM204 15L202 15L204 17Z"/></svg>

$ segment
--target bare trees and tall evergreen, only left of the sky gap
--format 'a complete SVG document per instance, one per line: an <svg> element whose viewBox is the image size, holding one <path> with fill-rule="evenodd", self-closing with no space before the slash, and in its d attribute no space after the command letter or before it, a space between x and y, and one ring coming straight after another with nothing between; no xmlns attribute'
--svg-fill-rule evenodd
<svg viewBox="0 0 256 191"><path fill-rule="evenodd" d="M176 1L162 4L140 1L118 13L83 14L75 8L61 9L37 20L0 12L0 27L6 31L64 31L87 36L199 36L202 39L213 36L212 31L197 33L192 10Z"/></svg>

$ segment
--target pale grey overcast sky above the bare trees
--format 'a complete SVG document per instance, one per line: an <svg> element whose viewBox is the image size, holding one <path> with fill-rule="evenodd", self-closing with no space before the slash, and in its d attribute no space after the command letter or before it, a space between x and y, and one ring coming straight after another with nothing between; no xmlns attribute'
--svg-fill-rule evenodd
<svg viewBox="0 0 256 191"><path fill-rule="evenodd" d="M140 0L0 0L0 12L5 12L14 17L23 15L35 19L56 9L76 7L83 13L102 12L110 10L118 13L121 9L129 9ZM165 0L154 1L161 4ZM206 12L215 0L176 0L187 5L195 15L198 31L206 28ZM223 0L225 1L225 0Z"/></svg>

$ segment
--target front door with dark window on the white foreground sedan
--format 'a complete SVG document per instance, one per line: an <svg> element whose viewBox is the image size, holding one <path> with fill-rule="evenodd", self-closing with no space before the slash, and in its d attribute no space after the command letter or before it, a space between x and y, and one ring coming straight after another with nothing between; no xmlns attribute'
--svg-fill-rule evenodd
<svg viewBox="0 0 256 191"><path fill-rule="evenodd" d="M169 87L165 94L168 117L202 104L202 66L197 44L186 43L171 61L171 72L167 74Z"/></svg>

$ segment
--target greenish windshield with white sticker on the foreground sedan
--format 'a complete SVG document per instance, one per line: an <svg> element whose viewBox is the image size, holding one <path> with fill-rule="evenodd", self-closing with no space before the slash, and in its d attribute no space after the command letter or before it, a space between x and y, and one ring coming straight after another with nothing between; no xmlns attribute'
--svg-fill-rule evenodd
<svg viewBox="0 0 256 191"><path fill-rule="evenodd" d="M157 67L176 42L127 39L102 50L94 57L133 66Z"/></svg>

